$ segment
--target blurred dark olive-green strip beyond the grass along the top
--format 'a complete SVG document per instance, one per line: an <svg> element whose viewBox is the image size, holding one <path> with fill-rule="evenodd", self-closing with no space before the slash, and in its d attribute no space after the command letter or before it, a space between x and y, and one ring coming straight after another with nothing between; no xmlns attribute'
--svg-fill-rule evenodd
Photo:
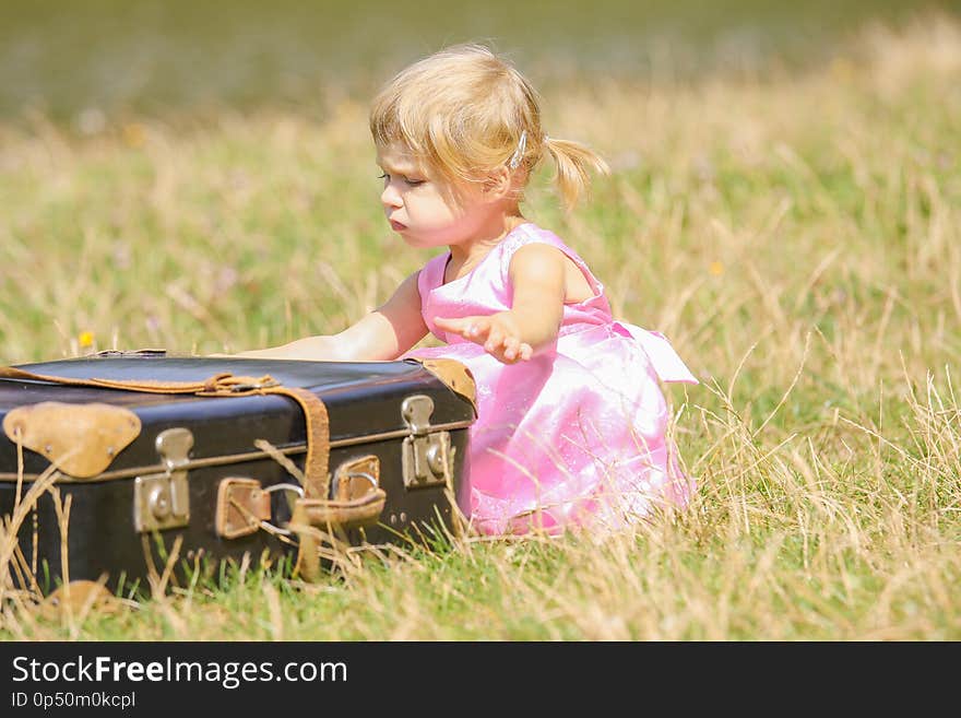
<svg viewBox="0 0 961 718"><path fill-rule="evenodd" d="M118 115L224 104L322 110L345 95L364 102L406 62L466 40L493 43L538 85L770 76L847 55L846 38L865 25L959 9L957 0L4 0L0 118L40 113L94 132Z"/></svg>

